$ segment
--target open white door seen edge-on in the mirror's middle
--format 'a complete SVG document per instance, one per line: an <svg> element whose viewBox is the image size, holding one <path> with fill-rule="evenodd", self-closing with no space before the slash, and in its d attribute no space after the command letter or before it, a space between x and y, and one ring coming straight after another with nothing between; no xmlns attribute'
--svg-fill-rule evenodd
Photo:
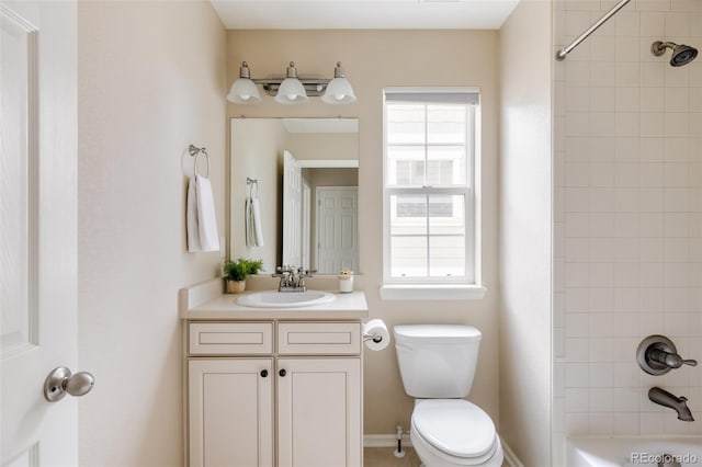
<svg viewBox="0 0 702 467"><path fill-rule="evenodd" d="M283 264L302 266L303 262L303 174L299 163L283 152Z"/></svg>

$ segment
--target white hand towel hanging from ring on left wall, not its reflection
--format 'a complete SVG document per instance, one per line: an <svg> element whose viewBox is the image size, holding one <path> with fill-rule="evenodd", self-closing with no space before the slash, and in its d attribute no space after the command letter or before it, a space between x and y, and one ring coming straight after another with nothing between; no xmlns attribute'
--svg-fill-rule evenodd
<svg viewBox="0 0 702 467"><path fill-rule="evenodd" d="M194 180L193 180L194 179ZM188 251L218 251L219 234L212 184L195 174L188 186Z"/></svg>

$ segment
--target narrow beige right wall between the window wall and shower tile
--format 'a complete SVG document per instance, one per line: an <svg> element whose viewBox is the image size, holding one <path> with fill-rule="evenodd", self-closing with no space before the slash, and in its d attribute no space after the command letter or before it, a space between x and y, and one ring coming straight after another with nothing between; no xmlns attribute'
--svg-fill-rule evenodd
<svg viewBox="0 0 702 467"><path fill-rule="evenodd" d="M524 41L529 37L529 41ZM500 30L500 431L528 466L551 433L551 4Z"/></svg>

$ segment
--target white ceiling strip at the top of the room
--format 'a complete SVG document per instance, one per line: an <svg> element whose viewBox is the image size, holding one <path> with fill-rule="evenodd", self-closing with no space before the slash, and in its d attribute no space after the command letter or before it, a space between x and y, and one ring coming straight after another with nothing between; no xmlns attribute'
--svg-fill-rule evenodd
<svg viewBox="0 0 702 467"><path fill-rule="evenodd" d="M211 0L228 30L498 30L519 0Z"/></svg>

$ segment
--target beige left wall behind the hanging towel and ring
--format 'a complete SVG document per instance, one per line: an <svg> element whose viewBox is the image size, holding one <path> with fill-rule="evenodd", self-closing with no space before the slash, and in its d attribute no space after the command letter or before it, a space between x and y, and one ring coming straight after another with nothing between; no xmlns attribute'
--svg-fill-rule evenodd
<svg viewBox="0 0 702 467"><path fill-rule="evenodd" d="M79 2L80 465L182 465L178 289L189 144L206 146L225 232L225 32L208 2Z"/></svg>

